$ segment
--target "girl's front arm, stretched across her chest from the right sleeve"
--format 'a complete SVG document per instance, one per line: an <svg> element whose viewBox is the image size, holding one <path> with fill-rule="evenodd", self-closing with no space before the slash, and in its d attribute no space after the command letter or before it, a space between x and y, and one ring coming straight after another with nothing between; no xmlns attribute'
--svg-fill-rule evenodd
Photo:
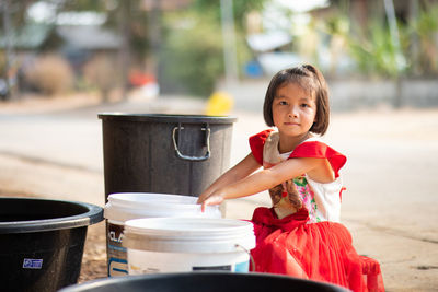
<svg viewBox="0 0 438 292"><path fill-rule="evenodd" d="M232 184L223 184L206 195L203 194L204 196L199 197L198 203L203 205L201 209L204 210L207 205L218 205L226 199L254 195L321 167L324 163L325 160L322 159L290 159L242 179L234 179Z"/></svg>

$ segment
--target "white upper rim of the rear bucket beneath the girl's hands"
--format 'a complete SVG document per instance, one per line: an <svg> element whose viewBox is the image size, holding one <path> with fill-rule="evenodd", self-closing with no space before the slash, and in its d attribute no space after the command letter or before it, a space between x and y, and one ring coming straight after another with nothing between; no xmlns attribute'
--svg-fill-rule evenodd
<svg viewBox="0 0 438 292"><path fill-rule="evenodd" d="M127 220L140 218L221 218L218 206L208 206L205 212L201 212L200 205L196 201L196 197L170 194L111 194L104 208L104 218L120 224Z"/></svg>

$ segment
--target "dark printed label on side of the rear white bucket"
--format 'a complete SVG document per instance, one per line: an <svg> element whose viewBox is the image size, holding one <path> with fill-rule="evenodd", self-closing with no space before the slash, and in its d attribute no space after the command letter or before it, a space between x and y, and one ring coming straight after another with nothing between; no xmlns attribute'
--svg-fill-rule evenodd
<svg viewBox="0 0 438 292"><path fill-rule="evenodd" d="M126 248L122 246L124 226L106 224L106 250L108 276L126 276L128 273Z"/></svg>

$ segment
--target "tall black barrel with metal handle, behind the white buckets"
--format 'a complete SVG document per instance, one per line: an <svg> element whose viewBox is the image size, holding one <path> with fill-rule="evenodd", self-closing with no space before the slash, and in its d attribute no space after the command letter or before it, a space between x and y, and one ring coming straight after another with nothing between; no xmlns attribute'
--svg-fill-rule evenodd
<svg viewBox="0 0 438 292"><path fill-rule="evenodd" d="M198 196L230 164L233 117L100 114L105 202L114 192Z"/></svg>

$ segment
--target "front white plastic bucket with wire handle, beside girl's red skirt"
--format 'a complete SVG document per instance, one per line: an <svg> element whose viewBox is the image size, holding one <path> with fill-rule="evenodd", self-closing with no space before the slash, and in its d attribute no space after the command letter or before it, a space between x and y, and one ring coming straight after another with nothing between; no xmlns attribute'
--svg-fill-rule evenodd
<svg viewBox="0 0 438 292"><path fill-rule="evenodd" d="M251 222L155 218L125 223L129 275L227 270L247 272L255 247Z"/></svg>

